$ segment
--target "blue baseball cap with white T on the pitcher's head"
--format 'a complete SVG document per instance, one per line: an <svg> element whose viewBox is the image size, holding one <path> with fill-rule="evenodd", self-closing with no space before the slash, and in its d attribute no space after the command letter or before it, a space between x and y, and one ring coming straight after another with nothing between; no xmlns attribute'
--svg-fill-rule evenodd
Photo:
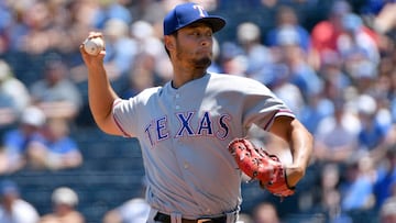
<svg viewBox="0 0 396 223"><path fill-rule="evenodd" d="M226 25L221 16L209 15L199 4L188 2L176 5L164 19L164 35L169 35L195 22L204 22L211 26L213 33Z"/></svg>

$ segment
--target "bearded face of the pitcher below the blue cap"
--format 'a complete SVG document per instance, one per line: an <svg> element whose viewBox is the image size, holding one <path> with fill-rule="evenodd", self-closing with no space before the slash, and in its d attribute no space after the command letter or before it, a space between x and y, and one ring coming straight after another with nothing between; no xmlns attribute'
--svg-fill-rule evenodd
<svg viewBox="0 0 396 223"><path fill-rule="evenodd" d="M175 52L179 62L196 68L207 68L212 59L212 30L207 24L195 23L180 29L176 35Z"/></svg>

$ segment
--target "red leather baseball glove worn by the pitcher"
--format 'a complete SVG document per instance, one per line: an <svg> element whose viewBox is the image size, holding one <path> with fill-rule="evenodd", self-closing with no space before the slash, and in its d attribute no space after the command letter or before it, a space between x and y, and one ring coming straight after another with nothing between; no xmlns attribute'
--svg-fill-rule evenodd
<svg viewBox="0 0 396 223"><path fill-rule="evenodd" d="M246 138L235 138L229 146L229 152L245 175L260 180L260 186L278 197L295 193L295 188L287 185L286 171L276 155L270 155L263 148L255 147Z"/></svg>

